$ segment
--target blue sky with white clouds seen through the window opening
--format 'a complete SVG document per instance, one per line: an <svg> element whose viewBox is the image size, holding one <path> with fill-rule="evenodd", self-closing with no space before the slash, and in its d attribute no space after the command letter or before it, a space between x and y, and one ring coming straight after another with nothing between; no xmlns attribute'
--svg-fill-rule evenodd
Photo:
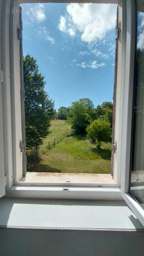
<svg viewBox="0 0 144 256"><path fill-rule="evenodd" d="M23 54L36 58L55 108L80 98L112 101L116 5L21 6Z"/></svg>

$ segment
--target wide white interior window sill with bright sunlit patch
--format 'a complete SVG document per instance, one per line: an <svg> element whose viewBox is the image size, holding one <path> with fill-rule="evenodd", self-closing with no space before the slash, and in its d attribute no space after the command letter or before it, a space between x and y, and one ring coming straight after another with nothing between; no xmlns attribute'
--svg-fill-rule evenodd
<svg viewBox="0 0 144 256"><path fill-rule="evenodd" d="M0 199L0 226L16 228L143 229L124 201Z"/></svg>

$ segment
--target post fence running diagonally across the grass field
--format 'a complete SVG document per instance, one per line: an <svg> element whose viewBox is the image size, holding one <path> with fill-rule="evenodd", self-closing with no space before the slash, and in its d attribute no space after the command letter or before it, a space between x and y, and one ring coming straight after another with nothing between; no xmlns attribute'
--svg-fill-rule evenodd
<svg viewBox="0 0 144 256"><path fill-rule="evenodd" d="M48 143L43 147L40 148L40 152L42 152L43 154L46 153L48 150L50 150L51 148L53 148L56 144L58 144L62 139L64 139L65 137L69 136L69 135L73 135L74 134L74 130L66 130L64 133L62 133L59 137L54 138L53 140L48 141Z"/></svg>

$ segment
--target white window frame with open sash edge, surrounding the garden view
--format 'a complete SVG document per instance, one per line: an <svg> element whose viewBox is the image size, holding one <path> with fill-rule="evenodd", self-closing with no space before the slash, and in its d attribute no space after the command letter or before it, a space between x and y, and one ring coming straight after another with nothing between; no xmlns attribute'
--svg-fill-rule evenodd
<svg viewBox="0 0 144 256"><path fill-rule="evenodd" d="M25 175L25 131L22 82L21 3L48 3L47 0L1 1L1 79L0 79L0 196L122 200L144 225L144 213L139 202L129 194L129 173L132 128L132 98L135 57L136 8L144 12L144 4L134 0L96 0L91 3L118 4L115 62L115 113L112 154L114 184L28 184L20 183ZM52 2L52 1L51 1ZM61 1L54 1L61 2ZM69 2L69 1L64 1ZM76 1L77 3L79 1ZM83 1L85 2L85 1ZM10 11L6 11L10 10ZM22 113L23 112L23 113ZM113 146L114 147L114 146ZM5 178L5 177L6 178ZM6 180L6 186L5 186ZM32 186L31 186L32 185ZM4 189L5 187L5 189Z"/></svg>

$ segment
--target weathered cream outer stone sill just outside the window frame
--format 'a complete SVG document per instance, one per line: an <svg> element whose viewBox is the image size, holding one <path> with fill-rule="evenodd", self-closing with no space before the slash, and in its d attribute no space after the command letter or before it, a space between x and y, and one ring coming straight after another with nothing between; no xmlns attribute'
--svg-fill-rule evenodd
<svg viewBox="0 0 144 256"><path fill-rule="evenodd" d="M16 185L66 185L66 186L113 186L116 182L111 174L27 172Z"/></svg>

